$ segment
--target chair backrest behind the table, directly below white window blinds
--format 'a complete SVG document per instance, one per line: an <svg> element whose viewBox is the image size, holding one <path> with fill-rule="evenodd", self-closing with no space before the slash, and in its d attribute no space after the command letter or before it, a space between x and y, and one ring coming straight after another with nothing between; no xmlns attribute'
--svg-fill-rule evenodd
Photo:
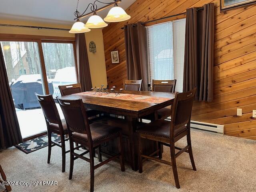
<svg viewBox="0 0 256 192"><path fill-rule="evenodd" d="M152 91L174 93L176 79L174 80L152 80Z"/></svg>

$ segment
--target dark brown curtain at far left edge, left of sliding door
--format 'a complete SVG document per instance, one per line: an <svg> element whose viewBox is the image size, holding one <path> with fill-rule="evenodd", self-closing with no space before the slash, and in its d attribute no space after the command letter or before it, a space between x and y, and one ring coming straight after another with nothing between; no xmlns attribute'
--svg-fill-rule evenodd
<svg viewBox="0 0 256 192"><path fill-rule="evenodd" d="M0 46L0 149L22 143L20 126L9 87L4 56Z"/></svg>

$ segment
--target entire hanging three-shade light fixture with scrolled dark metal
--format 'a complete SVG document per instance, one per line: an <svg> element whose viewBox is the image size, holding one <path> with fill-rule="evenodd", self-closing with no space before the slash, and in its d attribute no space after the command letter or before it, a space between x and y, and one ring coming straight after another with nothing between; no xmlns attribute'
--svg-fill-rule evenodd
<svg viewBox="0 0 256 192"><path fill-rule="evenodd" d="M100 1L95 0L94 3L89 3L86 10L82 14L80 14L80 12L78 12L77 10L79 0L77 1L76 11L74 12L74 15L76 16L74 20L76 20L76 22L73 24L71 30L69 31L70 33L84 33L84 32L89 32L90 31L89 28L106 27L108 26L108 24L106 24L104 20L106 22L121 22L131 18L131 16L129 16L121 7L118 7L117 4L120 3L121 0L114 0L114 2L110 2L110 3L100 2L102 4L107 4L102 8L97 8L97 5L95 4L96 2L100 2ZM104 20L96 14L96 12L100 12L113 5L114 7L110 9L110 11L108 12L108 15L104 18ZM92 12L85 14L89 6ZM92 15L92 16L90 16L86 24L84 24L83 22L80 22L80 19L85 18L86 16L89 16L89 15Z"/></svg>

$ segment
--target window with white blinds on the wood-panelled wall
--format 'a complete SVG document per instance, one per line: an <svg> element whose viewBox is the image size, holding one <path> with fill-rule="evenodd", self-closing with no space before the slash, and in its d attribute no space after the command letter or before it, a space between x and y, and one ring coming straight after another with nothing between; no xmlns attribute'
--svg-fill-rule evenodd
<svg viewBox="0 0 256 192"><path fill-rule="evenodd" d="M147 27L148 83L176 79L176 92L183 91L186 19Z"/></svg>

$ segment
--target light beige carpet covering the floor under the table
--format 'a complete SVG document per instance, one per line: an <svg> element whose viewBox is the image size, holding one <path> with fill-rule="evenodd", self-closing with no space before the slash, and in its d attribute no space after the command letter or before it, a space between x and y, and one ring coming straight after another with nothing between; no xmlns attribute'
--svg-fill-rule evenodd
<svg viewBox="0 0 256 192"><path fill-rule="evenodd" d="M177 142L184 146L186 140ZM67 143L68 145L68 143ZM95 171L95 192L255 192L256 141L192 131L192 148L197 171L192 170L187 153L177 159L180 189L175 187L172 168L148 160L143 173L134 172L126 164L121 172L119 162L110 162ZM90 166L75 160L73 179L68 180L69 154L66 172L61 172L61 150L52 148L47 164L48 148L30 154L15 147L0 152L0 163L8 180L58 181L58 186L12 186L14 192L83 192L90 189ZM170 159L169 148L163 158ZM95 159L98 162L97 159Z"/></svg>

